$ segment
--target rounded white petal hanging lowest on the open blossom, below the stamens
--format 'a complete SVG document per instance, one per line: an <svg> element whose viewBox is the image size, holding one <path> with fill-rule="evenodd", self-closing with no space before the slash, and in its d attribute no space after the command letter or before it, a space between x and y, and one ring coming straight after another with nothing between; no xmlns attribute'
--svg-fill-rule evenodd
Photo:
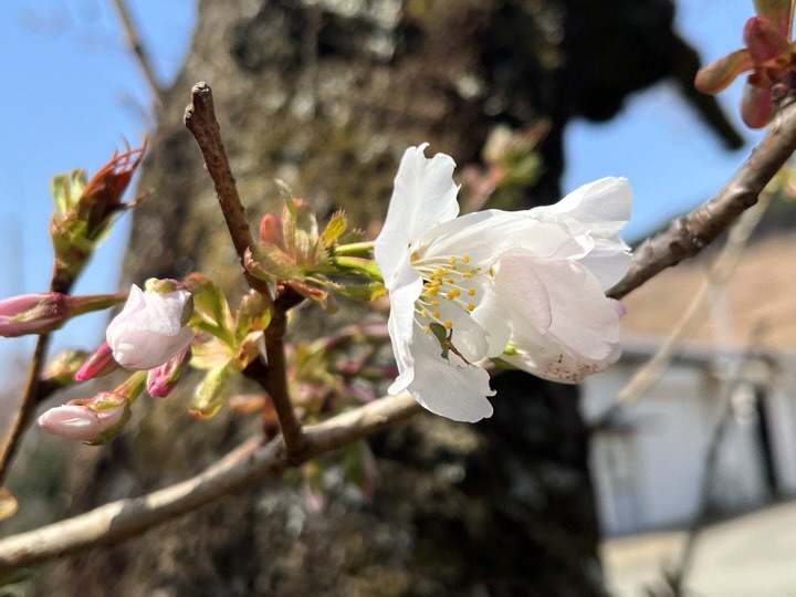
<svg viewBox="0 0 796 597"><path fill-rule="evenodd" d="M494 396L489 374L449 353L441 357L434 336L419 332L416 337L412 397L426 409L454 421L475 422L492 416L486 396Z"/></svg>

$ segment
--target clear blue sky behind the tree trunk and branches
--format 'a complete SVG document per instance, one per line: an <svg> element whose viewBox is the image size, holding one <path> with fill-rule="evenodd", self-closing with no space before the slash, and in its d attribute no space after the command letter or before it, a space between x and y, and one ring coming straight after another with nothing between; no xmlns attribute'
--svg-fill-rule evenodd
<svg viewBox="0 0 796 597"><path fill-rule="evenodd" d="M129 6L168 82L188 46L195 0L129 0ZM752 0L679 0L678 23L704 57L713 59L740 46L751 7ZM0 93L0 251L7 255L0 296L46 287L52 175L73 167L92 171L124 138L135 144L145 134L150 97L123 40L109 0L6 0L0 7L0 51L7 56ZM739 97L739 84L720 97L736 122ZM574 123L566 150L566 189L607 175L630 179L636 207L627 238L710 197L748 151L724 151L667 84L633 96L611 123ZM128 232L126 220L115 227L75 292L116 289ZM56 346L92 348L104 323L103 314L73 322L56 336ZM0 358L31 346L30 338L0 339Z"/></svg>

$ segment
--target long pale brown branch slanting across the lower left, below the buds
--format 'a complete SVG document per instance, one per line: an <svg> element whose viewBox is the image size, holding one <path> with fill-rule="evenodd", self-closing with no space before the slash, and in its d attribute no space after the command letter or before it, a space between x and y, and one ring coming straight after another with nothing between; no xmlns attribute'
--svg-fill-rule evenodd
<svg viewBox="0 0 796 597"><path fill-rule="evenodd" d="M308 427L302 461L381 431L420 410L408 394L401 394ZM0 540L0 572L119 543L251 483L276 476L292 464L279 439L266 444L250 440L205 472L175 485Z"/></svg>

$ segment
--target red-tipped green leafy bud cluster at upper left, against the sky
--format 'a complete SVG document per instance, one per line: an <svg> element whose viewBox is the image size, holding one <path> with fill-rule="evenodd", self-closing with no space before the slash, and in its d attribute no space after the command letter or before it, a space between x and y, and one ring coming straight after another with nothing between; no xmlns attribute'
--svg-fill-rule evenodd
<svg viewBox="0 0 796 597"><path fill-rule="evenodd" d="M115 217L144 198L122 201L145 149L146 144L136 149L128 147L122 154L114 153L88 180L80 169L53 178L55 211L50 220L50 237L55 252L54 287L69 287Z"/></svg>

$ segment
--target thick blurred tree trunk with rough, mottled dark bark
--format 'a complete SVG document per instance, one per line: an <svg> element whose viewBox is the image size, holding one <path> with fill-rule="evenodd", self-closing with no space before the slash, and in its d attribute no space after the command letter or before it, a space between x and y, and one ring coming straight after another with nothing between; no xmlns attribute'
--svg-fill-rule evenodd
<svg viewBox="0 0 796 597"><path fill-rule="evenodd" d="M478 161L496 123L552 123L545 174L524 205L549 202L569 118L608 118L631 91L688 70L677 59L683 44L668 0L617 1L609 11L598 0L407 1L402 11L398 0L305 4L200 2L143 169L140 187L156 195L135 217L128 280L200 269L240 289L212 186L181 124L197 81L214 90L252 221L276 208L277 177L321 213L344 207L366 227L383 217L407 146L428 140L459 164ZM315 320L305 316L302 333L322 325ZM493 419L464 426L421 416L375 438L380 482L371 502L337 480L331 459L322 515L306 512L290 482L266 483L127 545L52 566L40 590L603 594L577 392L521 374L495 386ZM177 397L147 405L136 430L81 463L71 507L187 476L256 423L228 412L195 421L185 406Z"/></svg>

